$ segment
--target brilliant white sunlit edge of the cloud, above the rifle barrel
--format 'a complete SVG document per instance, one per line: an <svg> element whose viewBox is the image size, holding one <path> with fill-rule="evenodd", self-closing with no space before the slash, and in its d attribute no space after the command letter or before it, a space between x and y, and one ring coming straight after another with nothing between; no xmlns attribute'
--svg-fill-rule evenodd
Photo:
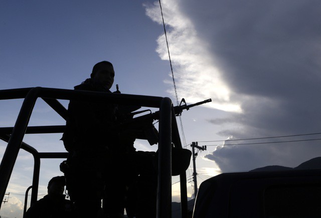
<svg viewBox="0 0 321 218"><path fill-rule="evenodd" d="M145 7L146 14L163 25L158 3ZM206 106L241 112L240 105L231 101L231 91L214 65L214 57L207 49L207 42L198 36L192 21L180 12L172 0L163 1L162 7L179 98L184 96L191 103L212 98L212 103ZM159 56L169 60L165 34L157 38L157 43ZM172 83L170 79L165 82ZM172 89L168 92L174 95Z"/></svg>

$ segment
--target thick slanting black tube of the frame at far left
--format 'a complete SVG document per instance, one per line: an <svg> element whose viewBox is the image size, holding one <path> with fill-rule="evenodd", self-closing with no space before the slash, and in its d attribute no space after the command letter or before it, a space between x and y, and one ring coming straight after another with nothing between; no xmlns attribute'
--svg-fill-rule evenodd
<svg viewBox="0 0 321 218"><path fill-rule="evenodd" d="M0 199L4 199L9 179L24 138L31 112L35 106L40 87L31 89L20 109L15 127L9 139L6 151L0 164ZM1 208L1 204L0 204Z"/></svg>

